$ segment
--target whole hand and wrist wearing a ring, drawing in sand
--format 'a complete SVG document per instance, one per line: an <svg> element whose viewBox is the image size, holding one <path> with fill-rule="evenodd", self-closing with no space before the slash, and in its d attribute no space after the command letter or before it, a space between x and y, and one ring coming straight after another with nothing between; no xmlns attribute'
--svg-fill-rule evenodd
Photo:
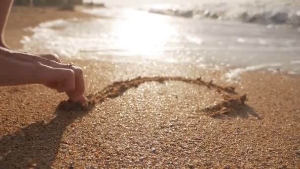
<svg viewBox="0 0 300 169"><path fill-rule="evenodd" d="M44 84L85 104L82 69L63 64L57 55L32 55L0 47L0 86Z"/></svg>

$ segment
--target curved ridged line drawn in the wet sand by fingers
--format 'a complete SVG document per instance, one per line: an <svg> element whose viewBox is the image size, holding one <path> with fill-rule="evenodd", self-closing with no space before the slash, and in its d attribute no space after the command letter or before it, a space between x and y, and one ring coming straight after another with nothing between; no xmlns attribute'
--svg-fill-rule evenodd
<svg viewBox="0 0 300 169"><path fill-rule="evenodd" d="M58 109L64 111L72 111L72 110L91 110L95 104L104 102L105 100L111 98L116 98L121 96L125 91L129 88L137 88L139 85L147 83L147 82L158 82L163 84L165 81L179 81L185 82L188 84L197 84L206 86L209 89L214 89L224 98L224 101L210 107L206 107L204 109L199 110L199 112L204 112L209 116L217 116L220 114L228 114L230 112L235 112L240 109L245 101L247 100L247 96L239 95L235 92L234 87L232 86L221 86L214 84L212 81L205 82L200 78L190 79L184 77L138 77L132 80L127 81L118 81L113 84L107 85L101 91L98 91L93 94L89 94L87 98L90 100L86 107L82 107L78 104L71 103L70 101L63 101L59 104Z"/></svg>

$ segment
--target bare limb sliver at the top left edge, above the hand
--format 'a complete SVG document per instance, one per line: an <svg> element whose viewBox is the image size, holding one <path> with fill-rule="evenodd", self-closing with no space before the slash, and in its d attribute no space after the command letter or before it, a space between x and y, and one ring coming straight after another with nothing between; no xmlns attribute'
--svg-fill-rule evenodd
<svg viewBox="0 0 300 169"><path fill-rule="evenodd" d="M7 47L4 42L4 28L13 0L0 0L0 46Z"/></svg>

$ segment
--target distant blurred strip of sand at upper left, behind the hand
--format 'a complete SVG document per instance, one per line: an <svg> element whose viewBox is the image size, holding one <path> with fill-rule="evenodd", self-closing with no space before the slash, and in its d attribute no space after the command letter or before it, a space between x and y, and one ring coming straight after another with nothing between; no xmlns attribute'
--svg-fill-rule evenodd
<svg viewBox="0 0 300 169"><path fill-rule="evenodd" d="M31 10L31 11L29 11ZM57 7L28 7L13 6L8 16L4 38L8 46L21 49L23 36L32 35L24 29L35 27L38 24L56 19L90 19L98 16L77 11L58 10Z"/></svg>

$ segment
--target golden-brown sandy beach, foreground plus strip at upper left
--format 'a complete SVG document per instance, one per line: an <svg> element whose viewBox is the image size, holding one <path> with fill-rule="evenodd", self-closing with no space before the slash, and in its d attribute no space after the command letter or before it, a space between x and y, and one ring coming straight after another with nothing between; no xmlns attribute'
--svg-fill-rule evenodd
<svg viewBox="0 0 300 169"><path fill-rule="evenodd" d="M14 7L6 42L22 48L24 28L72 17L94 16ZM0 87L0 168L300 167L298 75L256 71L229 83L187 63L64 62L84 69L96 104L61 110L67 97L45 86Z"/></svg>

